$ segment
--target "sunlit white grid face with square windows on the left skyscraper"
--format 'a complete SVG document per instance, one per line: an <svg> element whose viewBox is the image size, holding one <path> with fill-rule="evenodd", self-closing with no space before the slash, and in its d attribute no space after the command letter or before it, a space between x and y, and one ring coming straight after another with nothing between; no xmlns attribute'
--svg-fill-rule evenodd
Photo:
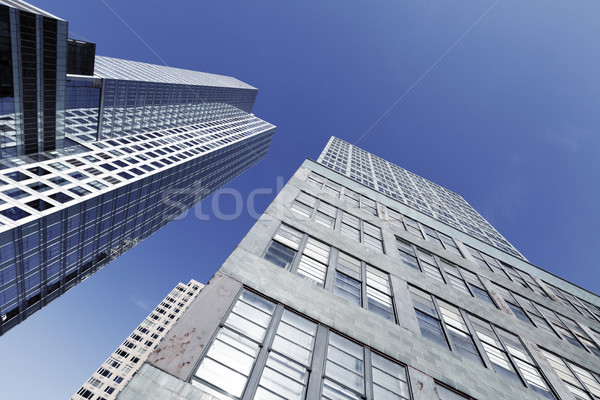
<svg viewBox="0 0 600 400"><path fill-rule="evenodd" d="M136 135L138 141L140 138L143 138L144 140L140 141L139 144L134 144L131 146L131 148L124 146L124 144L131 145L131 140L134 140L134 137L118 139L119 142L116 140L109 140L107 142L109 142L111 146L115 148L107 150L106 152L96 152L94 155L88 154L82 156L82 159L85 159L90 163L104 162L103 164L96 164L96 166L99 166L102 168L102 170L99 170L95 167L88 167L85 168L85 171L89 174L87 175L80 171L82 167L86 166L86 164L80 159L72 158L61 160L62 162L54 161L48 163L47 166L59 171L65 176L46 176L52 175L47 168L44 168L46 165L28 168L26 170L27 173L19 170L7 172L4 175L15 182L25 182L30 179L38 179L39 181L28 184L23 183L28 189L31 189L31 191L22 190L20 188L12 188L0 193L8 196L11 199L20 200L21 204L26 204L28 207L34 208L37 211L44 211L54 207L55 205L52 202L46 201L47 199L45 198L33 199L31 201L27 201L27 199L24 198L30 196L35 197L36 195L41 196L43 194L59 204L64 204L74 200L73 195L75 195L75 197L89 195L92 193L89 190L90 188L102 190L108 187L106 183L90 179L90 175L98 176L104 174L105 176L103 176L102 179L105 182L111 185L119 184L121 183L119 178L116 178L112 174L107 175L106 172L112 172L122 179L130 180L136 176L145 175L148 172L154 171L156 168L162 168L165 167L165 165L170 165L174 162L185 160L188 157L197 156L198 154L213 148L222 145L228 145L232 140L239 140L243 137L250 136L254 133L257 133L257 129L264 129L266 126L268 126L266 122L260 121L256 118L238 118L221 124L221 132L218 133L207 134L205 132L207 128L202 125L198 127L200 129L199 131L186 132L186 129L190 129L190 127L186 127L185 129L178 128L177 130L173 129L162 133L153 132L145 133L144 135ZM240 127L243 129L240 129ZM225 130L225 132L223 132L223 130ZM177 135L176 133L179 134ZM95 143L95 145L101 145L101 148L107 146L105 143ZM148 149L150 151L148 151ZM141 154L140 152L144 152L144 154ZM173 152L175 153L169 156L169 153ZM129 157L127 156L128 154L132 156ZM165 157L160 158L161 156ZM105 161L113 157L119 157L120 159L112 160L112 163ZM68 172L69 169L73 168L72 166L78 168L78 170ZM118 168L129 169L127 171L122 170L113 172ZM39 177L42 177L42 179L40 180ZM64 188L64 186L70 185L74 182L75 186ZM83 182L84 185L77 185L79 182ZM6 182L0 180L0 186L3 186L4 184L6 184ZM61 187L63 188L61 189ZM62 191L51 194L46 193L46 191L52 189ZM67 193L65 193L65 191ZM3 208L2 204L6 204L6 201L0 199L0 215L12 221L18 221L20 219L29 217L32 214L31 212L27 211L27 208L12 206L11 204L8 204Z"/></svg>

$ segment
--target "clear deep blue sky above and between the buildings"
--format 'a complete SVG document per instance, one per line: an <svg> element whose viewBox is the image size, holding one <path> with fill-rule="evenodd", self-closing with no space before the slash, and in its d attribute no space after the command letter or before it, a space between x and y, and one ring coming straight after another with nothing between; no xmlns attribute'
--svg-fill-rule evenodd
<svg viewBox="0 0 600 400"><path fill-rule="evenodd" d="M259 88L254 113L278 129L228 187L272 189L260 212L278 176L331 135L355 143L400 99L361 147L459 193L533 264L600 293L598 1L31 1L99 55ZM232 197L220 200L232 213ZM0 397L69 398L177 282L206 282L253 222L189 214L8 332Z"/></svg>

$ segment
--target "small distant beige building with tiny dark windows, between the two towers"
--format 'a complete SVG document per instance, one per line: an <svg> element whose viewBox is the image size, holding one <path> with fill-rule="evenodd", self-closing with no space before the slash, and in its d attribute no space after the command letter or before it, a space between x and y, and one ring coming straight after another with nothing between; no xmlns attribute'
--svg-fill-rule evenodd
<svg viewBox="0 0 600 400"><path fill-rule="evenodd" d="M188 308L204 285L179 283L92 374L71 400L116 399L137 370Z"/></svg>

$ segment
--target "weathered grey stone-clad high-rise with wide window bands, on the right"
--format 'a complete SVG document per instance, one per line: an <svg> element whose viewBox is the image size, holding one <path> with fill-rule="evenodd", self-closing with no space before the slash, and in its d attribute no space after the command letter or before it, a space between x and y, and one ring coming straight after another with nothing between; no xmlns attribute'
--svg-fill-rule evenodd
<svg viewBox="0 0 600 400"><path fill-rule="evenodd" d="M599 345L597 295L331 138L118 398L592 400Z"/></svg>

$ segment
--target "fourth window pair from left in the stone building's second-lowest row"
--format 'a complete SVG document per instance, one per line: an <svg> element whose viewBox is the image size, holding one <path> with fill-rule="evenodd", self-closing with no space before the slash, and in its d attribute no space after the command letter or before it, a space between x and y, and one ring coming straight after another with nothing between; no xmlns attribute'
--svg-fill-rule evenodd
<svg viewBox="0 0 600 400"><path fill-rule="evenodd" d="M556 398L517 336L472 315L469 315L469 320L496 372L521 381L549 399Z"/></svg>

